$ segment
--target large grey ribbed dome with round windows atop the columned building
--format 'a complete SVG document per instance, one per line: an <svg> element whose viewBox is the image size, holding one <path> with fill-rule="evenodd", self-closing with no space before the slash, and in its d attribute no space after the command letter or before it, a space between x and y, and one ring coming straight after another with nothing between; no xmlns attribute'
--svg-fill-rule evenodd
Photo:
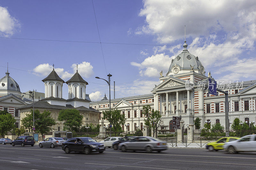
<svg viewBox="0 0 256 170"><path fill-rule="evenodd" d="M197 73L205 75L204 66L202 65L197 56L188 52L188 50L186 49L187 46L188 45L185 41L183 45L184 50L181 52L181 54L177 55L174 59L172 59L172 63L166 76L186 73L193 70ZM193 70L191 67L193 67Z"/></svg>

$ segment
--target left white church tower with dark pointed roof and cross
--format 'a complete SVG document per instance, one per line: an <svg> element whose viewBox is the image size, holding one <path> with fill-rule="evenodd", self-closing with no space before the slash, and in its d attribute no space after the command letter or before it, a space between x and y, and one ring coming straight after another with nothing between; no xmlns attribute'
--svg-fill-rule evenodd
<svg viewBox="0 0 256 170"><path fill-rule="evenodd" d="M44 82L45 98L62 98L62 86L65 82L54 71L54 65L52 72L42 81Z"/></svg>

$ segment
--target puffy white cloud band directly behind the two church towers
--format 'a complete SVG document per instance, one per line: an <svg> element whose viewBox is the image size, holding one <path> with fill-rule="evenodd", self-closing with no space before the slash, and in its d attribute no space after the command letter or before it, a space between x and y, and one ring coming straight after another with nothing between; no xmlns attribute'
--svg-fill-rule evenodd
<svg viewBox="0 0 256 170"><path fill-rule="evenodd" d="M59 75L60 78L71 78L75 73L76 73L76 64L71 65L72 71L65 71L63 68L54 68L56 73ZM39 64L36 66L33 71L39 74L36 74L37 76L43 76L45 77L46 75L49 75L50 72L52 71L53 66L50 65L49 63L44 63L44 64ZM79 74L84 77L84 78L89 78L90 76L93 75L93 67L90 63L88 62L83 62L78 64L78 72Z"/></svg>

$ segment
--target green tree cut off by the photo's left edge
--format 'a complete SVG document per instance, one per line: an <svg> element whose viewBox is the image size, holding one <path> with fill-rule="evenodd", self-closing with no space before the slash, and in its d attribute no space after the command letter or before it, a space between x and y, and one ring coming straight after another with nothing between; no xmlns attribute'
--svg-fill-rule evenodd
<svg viewBox="0 0 256 170"><path fill-rule="evenodd" d="M0 136L4 138L8 131L14 129L15 122L14 117L7 111L0 111Z"/></svg>

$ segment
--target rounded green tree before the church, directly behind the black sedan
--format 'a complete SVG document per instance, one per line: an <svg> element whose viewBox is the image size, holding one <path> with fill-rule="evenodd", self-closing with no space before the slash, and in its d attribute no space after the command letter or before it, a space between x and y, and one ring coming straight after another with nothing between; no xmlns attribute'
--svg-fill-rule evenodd
<svg viewBox="0 0 256 170"><path fill-rule="evenodd" d="M64 130L78 131L82 126L83 116L76 109L60 110L59 121L64 121Z"/></svg>

